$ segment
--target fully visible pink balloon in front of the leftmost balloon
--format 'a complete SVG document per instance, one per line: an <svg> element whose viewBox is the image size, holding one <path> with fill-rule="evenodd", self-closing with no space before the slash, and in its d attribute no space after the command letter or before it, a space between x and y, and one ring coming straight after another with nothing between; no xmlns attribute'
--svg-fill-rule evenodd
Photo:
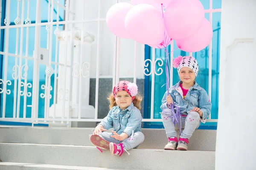
<svg viewBox="0 0 256 170"><path fill-rule="evenodd" d="M163 15L154 6L139 4L131 8L125 18L125 27L137 42L160 44L163 41Z"/></svg>

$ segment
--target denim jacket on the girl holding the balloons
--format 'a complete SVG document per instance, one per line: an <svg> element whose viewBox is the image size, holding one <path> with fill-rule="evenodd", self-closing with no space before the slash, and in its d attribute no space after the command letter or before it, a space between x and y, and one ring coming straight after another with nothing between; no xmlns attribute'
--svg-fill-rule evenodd
<svg viewBox="0 0 256 170"><path fill-rule="evenodd" d="M172 96L173 102L180 107L180 113L182 114L190 113L190 111L195 107L200 108L203 112L203 117L200 120L205 123L206 118L209 116L212 109L212 103L209 100L207 92L195 82L195 85L189 89L185 99L183 99L183 92L180 88L180 83L181 81L169 89L169 94ZM162 110L168 108L166 102L167 96L166 91L162 99Z"/></svg>

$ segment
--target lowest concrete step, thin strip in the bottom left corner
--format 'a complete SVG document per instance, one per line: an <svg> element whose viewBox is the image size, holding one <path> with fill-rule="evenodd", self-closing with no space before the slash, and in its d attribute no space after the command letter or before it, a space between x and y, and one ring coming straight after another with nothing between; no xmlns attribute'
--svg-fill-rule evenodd
<svg viewBox="0 0 256 170"><path fill-rule="evenodd" d="M106 170L103 167L79 167L79 166L63 166L52 164L28 164L17 162L0 162L0 170ZM108 170L119 170L109 169ZM131 169L122 169L131 170Z"/></svg>

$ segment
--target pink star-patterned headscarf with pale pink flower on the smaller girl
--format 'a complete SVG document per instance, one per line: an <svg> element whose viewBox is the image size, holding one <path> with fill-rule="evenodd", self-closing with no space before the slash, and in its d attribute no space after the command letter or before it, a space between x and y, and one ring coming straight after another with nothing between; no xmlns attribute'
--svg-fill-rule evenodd
<svg viewBox="0 0 256 170"><path fill-rule="evenodd" d="M113 88L114 98L116 98L116 94L119 91L126 91L131 96L131 99L134 100L135 96L138 93L138 87L135 83L131 83L131 82L128 82L128 81L120 81Z"/></svg>

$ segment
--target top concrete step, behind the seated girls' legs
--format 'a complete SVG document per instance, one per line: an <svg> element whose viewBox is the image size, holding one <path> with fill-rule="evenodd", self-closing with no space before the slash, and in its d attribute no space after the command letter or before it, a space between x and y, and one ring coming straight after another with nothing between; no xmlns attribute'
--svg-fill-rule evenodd
<svg viewBox="0 0 256 170"><path fill-rule="evenodd" d="M93 146L89 135L93 128L0 127L0 142L31 144L65 144ZM110 131L110 130L108 130ZM143 129L145 141L140 148L163 149L167 144L164 129ZM179 133L177 131L177 133ZM216 130L195 130L189 150L215 150Z"/></svg>

